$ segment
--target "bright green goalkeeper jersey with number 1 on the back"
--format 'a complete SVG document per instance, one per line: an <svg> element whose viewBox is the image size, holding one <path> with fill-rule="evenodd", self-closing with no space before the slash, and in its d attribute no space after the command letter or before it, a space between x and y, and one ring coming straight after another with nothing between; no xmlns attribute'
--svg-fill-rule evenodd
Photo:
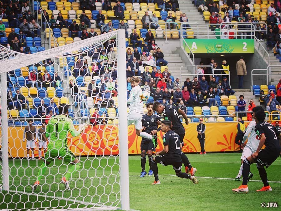
<svg viewBox="0 0 281 211"><path fill-rule="evenodd" d="M65 149L67 146L68 132L75 131L73 122L70 118L64 115L52 117L46 128L46 133L50 134L48 149Z"/></svg>

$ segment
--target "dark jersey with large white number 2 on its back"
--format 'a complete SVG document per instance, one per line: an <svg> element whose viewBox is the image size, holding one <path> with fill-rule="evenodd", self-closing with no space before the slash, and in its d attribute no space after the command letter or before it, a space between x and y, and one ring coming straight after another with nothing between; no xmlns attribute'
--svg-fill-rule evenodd
<svg viewBox="0 0 281 211"><path fill-rule="evenodd" d="M163 145L169 145L169 151L167 152L167 157L173 160L177 160L181 158L182 150L181 150L181 141L179 135L169 130L163 135Z"/></svg>

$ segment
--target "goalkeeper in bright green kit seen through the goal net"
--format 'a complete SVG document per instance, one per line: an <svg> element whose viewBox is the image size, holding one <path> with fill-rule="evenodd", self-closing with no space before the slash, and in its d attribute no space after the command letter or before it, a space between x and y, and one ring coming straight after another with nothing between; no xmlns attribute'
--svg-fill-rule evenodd
<svg viewBox="0 0 281 211"><path fill-rule="evenodd" d="M80 125L79 130L76 131L72 120L66 117L68 114L68 108L69 106L65 103L60 104L60 115L52 117L47 124L46 137L50 138L48 150L45 154L45 163L40 166L37 174L37 180L31 186L32 190L35 190L40 184L41 177L45 174L46 167L58 156L61 157L63 161L72 164L68 172L65 174L65 177L61 179L61 182L65 185L66 189L70 189L69 178L73 171L79 170L81 167L79 160L67 146L67 134L69 131L72 136L78 136L85 130L87 124Z"/></svg>

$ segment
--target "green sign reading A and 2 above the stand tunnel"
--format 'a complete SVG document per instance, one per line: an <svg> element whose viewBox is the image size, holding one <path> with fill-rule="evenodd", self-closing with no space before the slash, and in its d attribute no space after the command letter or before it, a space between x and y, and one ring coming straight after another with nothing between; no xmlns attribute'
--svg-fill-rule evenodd
<svg viewBox="0 0 281 211"><path fill-rule="evenodd" d="M184 49L187 53L254 53L253 39L185 39Z"/></svg>

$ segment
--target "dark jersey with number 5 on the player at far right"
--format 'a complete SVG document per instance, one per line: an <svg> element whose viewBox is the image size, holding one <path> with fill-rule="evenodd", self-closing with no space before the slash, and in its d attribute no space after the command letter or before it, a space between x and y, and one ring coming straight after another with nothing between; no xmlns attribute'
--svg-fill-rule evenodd
<svg viewBox="0 0 281 211"><path fill-rule="evenodd" d="M255 126L255 132L260 137L261 134L265 136L265 148L273 151L280 152L280 145L278 136L280 132L270 123L268 122L259 122Z"/></svg>

